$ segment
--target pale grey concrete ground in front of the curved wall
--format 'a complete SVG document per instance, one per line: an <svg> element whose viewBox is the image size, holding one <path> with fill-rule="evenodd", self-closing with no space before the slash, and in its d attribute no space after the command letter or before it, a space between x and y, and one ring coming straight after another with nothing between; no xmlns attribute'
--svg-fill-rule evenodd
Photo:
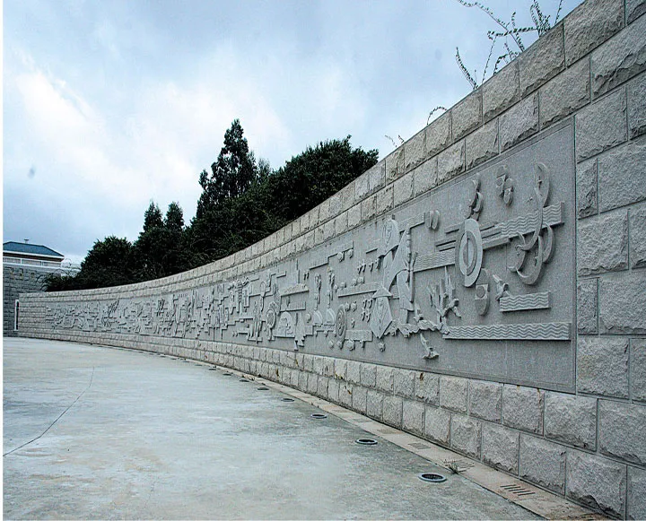
<svg viewBox="0 0 646 521"><path fill-rule="evenodd" d="M5 338L4 517L536 518L459 475L422 482L446 471L210 367Z"/></svg>

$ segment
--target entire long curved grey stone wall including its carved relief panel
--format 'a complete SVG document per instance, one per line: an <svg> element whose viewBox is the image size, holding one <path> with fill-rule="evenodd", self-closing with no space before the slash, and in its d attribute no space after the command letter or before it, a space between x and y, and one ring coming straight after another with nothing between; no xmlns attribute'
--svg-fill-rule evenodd
<svg viewBox="0 0 646 521"><path fill-rule="evenodd" d="M646 4L582 4L310 213L19 334L169 352L646 516Z"/></svg>

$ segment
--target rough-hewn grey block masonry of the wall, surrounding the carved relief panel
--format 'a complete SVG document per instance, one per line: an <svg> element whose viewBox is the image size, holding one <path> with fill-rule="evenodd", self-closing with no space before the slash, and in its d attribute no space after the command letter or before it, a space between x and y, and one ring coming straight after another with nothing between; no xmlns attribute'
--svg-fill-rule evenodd
<svg viewBox="0 0 646 521"><path fill-rule="evenodd" d="M240 369L410 431L611 517L646 517L644 13L643 1L588 0L483 87L283 230L167 279L24 295L21 334L169 352ZM573 149L563 167L572 169L575 187L572 200L563 203L572 211L572 235L563 228L555 238L572 260L570 272L559 270L569 280L558 296L572 300L569 317L563 308L572 333L546 349L571 353L558 366L571 371L571 386L541 384L545 375L530 385L478 372L478 364L497 356L491 342L468 373L442 369L449 350L441 352L437 367L412 368L362 356L361 349L326 355L309 352L307 343L293 352L286 344L250 345L240 336L142 335L52 321L64 305L78 310L87 303L189 292L292 262L346 233L377 229L386 216L399 218L478 172L485 181L491 165L567 129ZM556 296L558 288L547 291ZM451 318L449 326L456 324ZM405 343L398 340L402 335L394 338ZM453 342L459 351L462 343ZM528 343L506 345L510 352L531 351ZM386 352L393 349L390 343ZM525 364L519 371L545 367L532 366L531 357L518 360Z"/></svg>

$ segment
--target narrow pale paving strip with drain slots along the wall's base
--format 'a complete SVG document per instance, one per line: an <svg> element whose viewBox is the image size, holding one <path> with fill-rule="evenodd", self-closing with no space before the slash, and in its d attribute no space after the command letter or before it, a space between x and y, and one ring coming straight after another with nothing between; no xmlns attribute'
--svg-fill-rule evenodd
<svg viewBox="0 0 646 521"><path fill-rule="evenodd" d="M196 360L197 361L197 360ZM212 365L203 362L205 365ZM220 366L224 367L224 366ZM550 491L540 489L528 482L523 482L510 474L503 473L490 466L484 465L476 460L468 459L457 452L433 444L427 439L418 438L413 434L397 430L379 421L372 420L367 416L346 409L342 405L332 404L318 396L308 395L298 389L278 384L266 378L249 375L235 369L226 368L229 372L243 378L249 378L263 386L270 387L276 391L290 395L310 405L318 407L322 411L334 414L337 418L370 432L380 439L385 439L417 456L422 456L433 465L450 470L445 461L456 462L459 475L467 480L475 482L487 491L501 496L511 503L546 519L607 519L607 517L593 512L588 508L572 503L568 499L557 496Z"/></svg>

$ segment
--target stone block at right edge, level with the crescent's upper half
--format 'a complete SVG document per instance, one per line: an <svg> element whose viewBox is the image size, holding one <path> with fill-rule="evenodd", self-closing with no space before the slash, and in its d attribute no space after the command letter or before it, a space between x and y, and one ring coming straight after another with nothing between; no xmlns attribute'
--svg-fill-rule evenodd
<svg viewBox="0 0 646 521"><path fill-rule="evenodd" d="M624 144L598 160L601 212L646 200L646 138Z"/></svg>

